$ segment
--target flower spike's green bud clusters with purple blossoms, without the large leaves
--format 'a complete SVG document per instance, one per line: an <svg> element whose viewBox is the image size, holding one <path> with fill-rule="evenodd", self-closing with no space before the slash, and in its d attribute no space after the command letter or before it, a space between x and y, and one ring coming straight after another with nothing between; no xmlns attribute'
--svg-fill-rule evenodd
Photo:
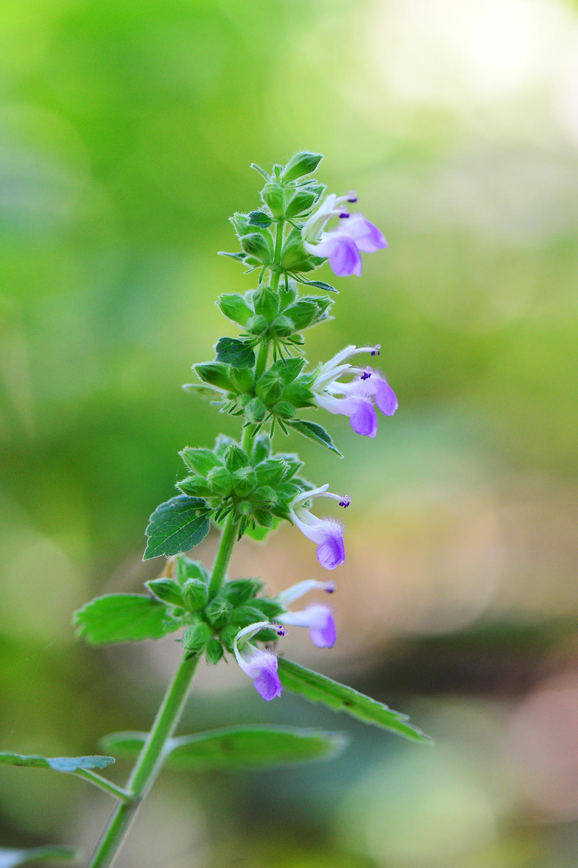
<svg viewBox="0 0 578 868"><path fill-rule="evenodd" d="M221 412L242 417L248 437L244 435L242 441L245 449L220 435L213 450L182 450L190 473L177 488L199 499L214 523L221 526L228 516L239 537L256 536L259 529L266 532L282 520L292 523L315 543L321 566L335 569L345 561L343 524L334 517L316 516L312 503L327 497L345 508L349 497L300 477L302 463L296 455L273 454L275 425L286 434L298 431L338 451L324 428L300 418L298 411L322 409L345 415L353 431L375 437L376 407L391 416L397 398L377 368L352 364L359 355L377 357L379 345L350 345L325 364L312 369L306 365L302 332L332 319L333 300L326 293L337 290L324 281L305 279L305 274L328 260L336 275L358 275L360 253L387 247L377 227L362 214L351 213L351 205L357 202L353 191L345 196L329 194L322 201L325 187L311 177L320 159L319 154L301 151L285 167L274 166L271 174L253 165L266 181L261 205L233 215L240 252L223 255L242 262L246 273L259 268L259 284L244 294L226 293L217 299L221 312L242 331L237 338L221 338L215 358L194 365L200 383L185 386L213 398ZM338 223L327 231L330 220ZM305 286L304 293L299 293L299 285ZM313 288L324 294L313 294ZM268 433L261 431L264 426ZM156 581L170 582L170 590L155 582L148 586L176 607L171 617L187 624L183 635L187 651L200 654L205 649L212 663L225 652L234 654L266 700L281 692L273 643L285 635L286 626L308 628L319 648L332 648L335 642L330 608L319 602L301 611L286 608L311 590L332 592L332 582L299 582L269 598L262 594L258 580L237 579L225 582L209 599L207 574L184 556L174 562L172 577ZM266 643L266 648L259 649L256 642Z"/></svg>

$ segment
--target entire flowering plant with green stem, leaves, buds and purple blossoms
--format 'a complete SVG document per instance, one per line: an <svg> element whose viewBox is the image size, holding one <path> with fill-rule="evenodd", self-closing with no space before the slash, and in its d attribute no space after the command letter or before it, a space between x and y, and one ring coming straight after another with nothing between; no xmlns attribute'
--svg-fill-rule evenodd
<svg viewBox="0 0 578 868"><path fill-rule="evenodd" d="M376 368L359 367L353 358L379 355L379 346L347 346L330 361L309 368L303 332L330 319L332 295L325 281L305 278L326 260L338 276L360 274L362 253L386 247L378 228L361 214L351 214L355 194L325 196L314 180L321 155L301 151L285 167L274 166L264 177L259 208L233 214L231 221L240 251L225 253L246 267L259 270L256 288L244 295L220 295L217 304L225 316L241 327L237 338L220 338L215 358L194 365L197 382L184 388L210 398L220 412L240 418L239 441L220 435L212 449L187 446L181 451L183 477L178 494L161 503L147 528L144 560L165 556L161 575L145 582L147 594L108 594L96 597L74 615L77 635L92 645L159 639L182 630L180 667L167 688L149 733L112 733L101 745L113 754L138 754L125 787L96 773L114 762L113 756L44 758L0 754L12 765L42 766L86 779L117 799L117 806L90 859L90 868L112 865L141 800L165 762L178 757L181 767L274 765L319 759L345 746L341 733L316 733L286 727L228 727L212 733L174 738L194 670L204 656L215 664L231 655L253 680L263 700L282 690L306 700L324 703L406 738L427 741L404 714L351 687L277 656L286 627L309 630L318 648L336 641L332 609L313 602L303 609L289 608L312 591L332 594L333 581L299 581L280 594L266 594L263 582L229 578L227 567L234 543L241 536L264 539L279 522L292 523L317 546L317 558L327 570L345 561L343 525L313 510L317 498L331 498L345 509L348 496L332 494L327 483L316 486L302 477L303 463L292 453L273 450L273 436L297 431L314 443L340 455L332 437L318 422L301 418L302 409L322 409L350 418L353 431L375 437L375 407L385 416L397 409L397 399ZM338 225L329 231L329 220ZM319 291L319 292L314 292ZM207 536L213 523L220 542L209 571L187 553ZM62 858L62 847L19 851L6 857L6 865L30 858ZM36 852L36 856L34 853ZM11 859L11 861L10 861ZM4 864L4 863L2 863Z"/></svg>

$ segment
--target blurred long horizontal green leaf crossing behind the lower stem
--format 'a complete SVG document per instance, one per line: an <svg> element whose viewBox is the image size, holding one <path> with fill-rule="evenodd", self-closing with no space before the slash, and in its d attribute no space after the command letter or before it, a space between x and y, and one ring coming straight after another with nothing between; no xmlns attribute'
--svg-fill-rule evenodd
<svg viewBox="0 0 578 868"><path fill-rule="evenodd" d="M119 756L134 756L146 737L147 733L113 733L100 743ZM167 766L194 772L271 768L329 759L341 753L346 745L344 733L261 724L227 727L171 739L167 743Z"/></svg>

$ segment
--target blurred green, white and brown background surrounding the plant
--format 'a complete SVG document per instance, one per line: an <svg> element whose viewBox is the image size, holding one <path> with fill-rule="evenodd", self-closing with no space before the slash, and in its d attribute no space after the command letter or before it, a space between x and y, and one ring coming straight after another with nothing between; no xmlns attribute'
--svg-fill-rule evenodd
<svg viewBox="0 0 578 868"><path fill-rule="evenodd" d="M249 163L312 148L390 247L338 279L309 356L380 342L399 410L374 441L319 418L344 461L282 446L352 498L338 644L292 629L284 647L408 711L437 747L289 694L266 704L220 663L181 732L278 721L351 746L282 773L166 773L119 868L574 866L578 7L1 8L0 749L94 753L103 733L149 726L174 638L90 650L70 612L160 571L141 563L143 531L177 450L238 431L181 383L235 333L217 293L254 286L215 255L234 249L227 216L257 204ZM241 542L232 567L273 592L321 574L291 528ZM111 800L88 791L3 769L0 845L89 851Z"/></svg>

